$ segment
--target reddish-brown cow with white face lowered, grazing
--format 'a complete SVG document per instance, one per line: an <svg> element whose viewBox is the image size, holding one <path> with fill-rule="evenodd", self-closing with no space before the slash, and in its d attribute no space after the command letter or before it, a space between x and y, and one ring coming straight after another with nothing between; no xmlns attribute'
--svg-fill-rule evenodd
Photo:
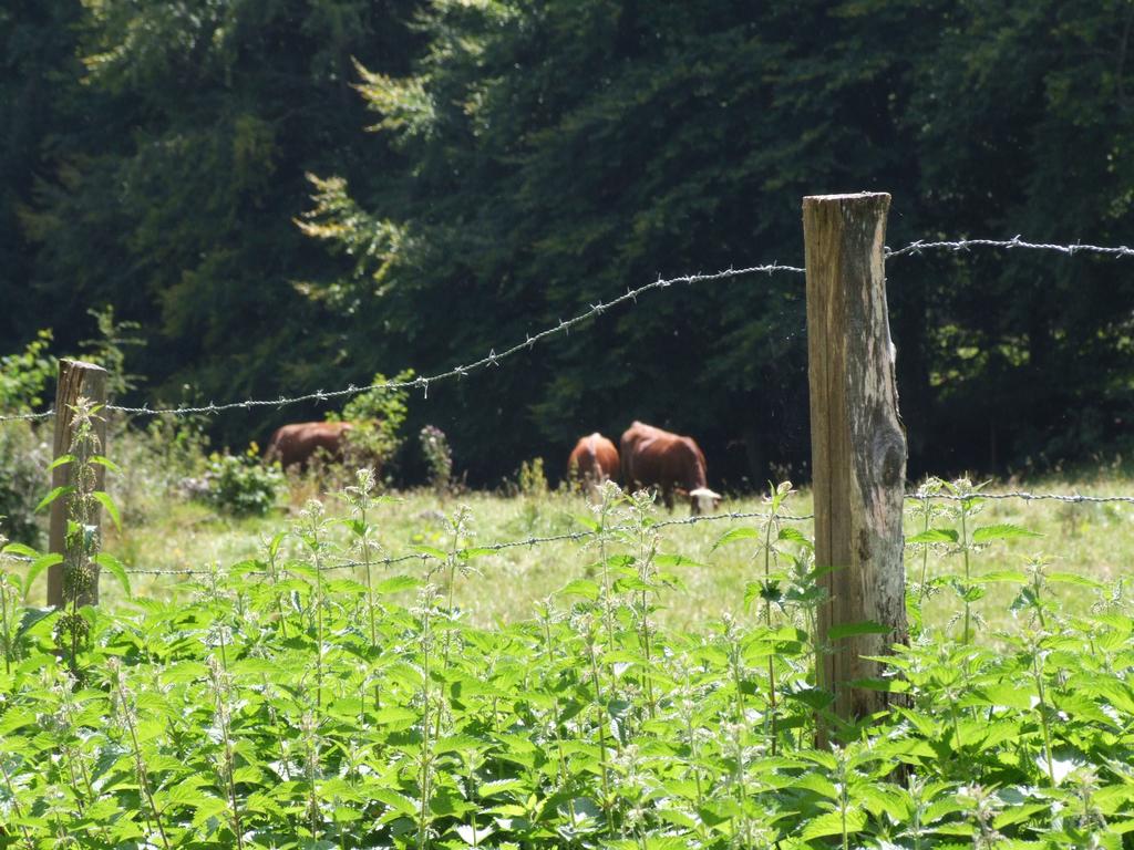
<svg viewBox="0 0 1134 850"><path fill-rule="evenodd" d="M706 513L720 504L720 495L706 486L705 456L693 437L635 422L623 434L620 448L627 488L657 486L670 510L674 491L689 496L693 513Z"/></svg>

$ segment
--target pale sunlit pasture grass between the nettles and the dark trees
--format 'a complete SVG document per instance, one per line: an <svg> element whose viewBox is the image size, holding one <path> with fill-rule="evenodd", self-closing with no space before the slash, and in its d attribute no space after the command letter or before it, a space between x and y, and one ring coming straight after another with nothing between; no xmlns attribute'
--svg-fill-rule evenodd
<svg viewBox="0 0 1134 850"><path fill-rule="evenodd" d="M1017 488L1000 483L988 485L987 492ZM1086 494L1134 493L1134 481L1115 473L1101 473L1088 479L1049 478L1030 482L1031 492L1082 492ZM221 569L246 559L262 556L264 542L294 522L306 498L318 494L310 482L295 482L289 502L268 517L234 519L198 502L175 496L149 496L145 510L132 510L130 493L119 495L125 501L128 518L120 533L110 533L108 551L129 568L146 570ZM345 503L335 494L323 494L328 512L345 513ZM907 503L911 508L913 503ZM945 502L940 503L945 505ZM505 541L521 541L582 532L584 519L592 515L589 502L578 494L544 493L539 495L502 496L494 493L468 492L459 496L438 496L429 490L389 494L389 501L378 508L379 542L387 556L415 551L415 546L446 547L447 522L460 505L471 511L469 535L463 545L483 546ZM730 499L721 511L755 512L764 510L760 498ZM788 508L795 516L811 513L811 495L806 490L792 495ZM672 515L665 509L659 520L680 519L686 512ZM130 519L133 517L133 519ZM973 572L981 575L1023 569L1030 559L1042 556L1051 570L1073 572L1111 584L1129 575L1134 564L1134 505L1124 503L1067 504L1026 502L1022 500L988 501L974 525L1010 524L1042 536L999 541L973 556ZM695 562L680 569L683 586L662 601L662 618L676 628L700 626L717 620L722 613L743 613L745 586L763 569L753 561L751 541L714 549L720 536L737 522L755 526L759 519L722 520L688 526L667 527L662 534L662 551L680 554ZM922 528L922 520L907 516L907 535ZM792 525L811 536L810 520ZM938 517L934 527L948 527L955 520ZM972 528L970 528L971 533ZM340 529L345 537L346 532ZM285 550L294 543L286 543ZM761 555L762 558L762 555ZM921 577L923 555L907 547L907 578ZM471 620L479 624L514 621L531 615L533 603L555 594L568 581L586 575L595 553L583 542L562 541L513 547L474 562L480 575L459 578L455 595ZM948 555L938 547L929 553L926 575L930 578L962 570L960 555ZM421 569L416 562L398 564L397 571ZM136 595L167 598L184 590L191 577L136 575ZM121 592L105 584L109 603L121 601ZM1095 601L1083 587L1059 588L1068 613L1082 612ZM976 605L984 612L989 629L996 629L1008 617L1007 604L1015 588L1004 584L988 586L988 596ZM955 601L938 594L926 602L926 622L942 623L946 612L955 610Z"/></svg>

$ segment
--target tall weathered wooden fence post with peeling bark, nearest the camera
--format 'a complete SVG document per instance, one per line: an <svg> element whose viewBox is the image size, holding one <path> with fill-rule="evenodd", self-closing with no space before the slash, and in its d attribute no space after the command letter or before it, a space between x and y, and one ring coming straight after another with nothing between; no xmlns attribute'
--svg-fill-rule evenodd
<svg viewBox="0 0 1134 850"><path fill-rule="evenodd" d="M863 656L908 640L906 436L882 256L889 206L881 193L803 199L815 566L833 568L821 579L828 598L819 611L826 653L818 675L846 720L885 709L891 699L852 685L880 673L879 663Z"/></svg>

